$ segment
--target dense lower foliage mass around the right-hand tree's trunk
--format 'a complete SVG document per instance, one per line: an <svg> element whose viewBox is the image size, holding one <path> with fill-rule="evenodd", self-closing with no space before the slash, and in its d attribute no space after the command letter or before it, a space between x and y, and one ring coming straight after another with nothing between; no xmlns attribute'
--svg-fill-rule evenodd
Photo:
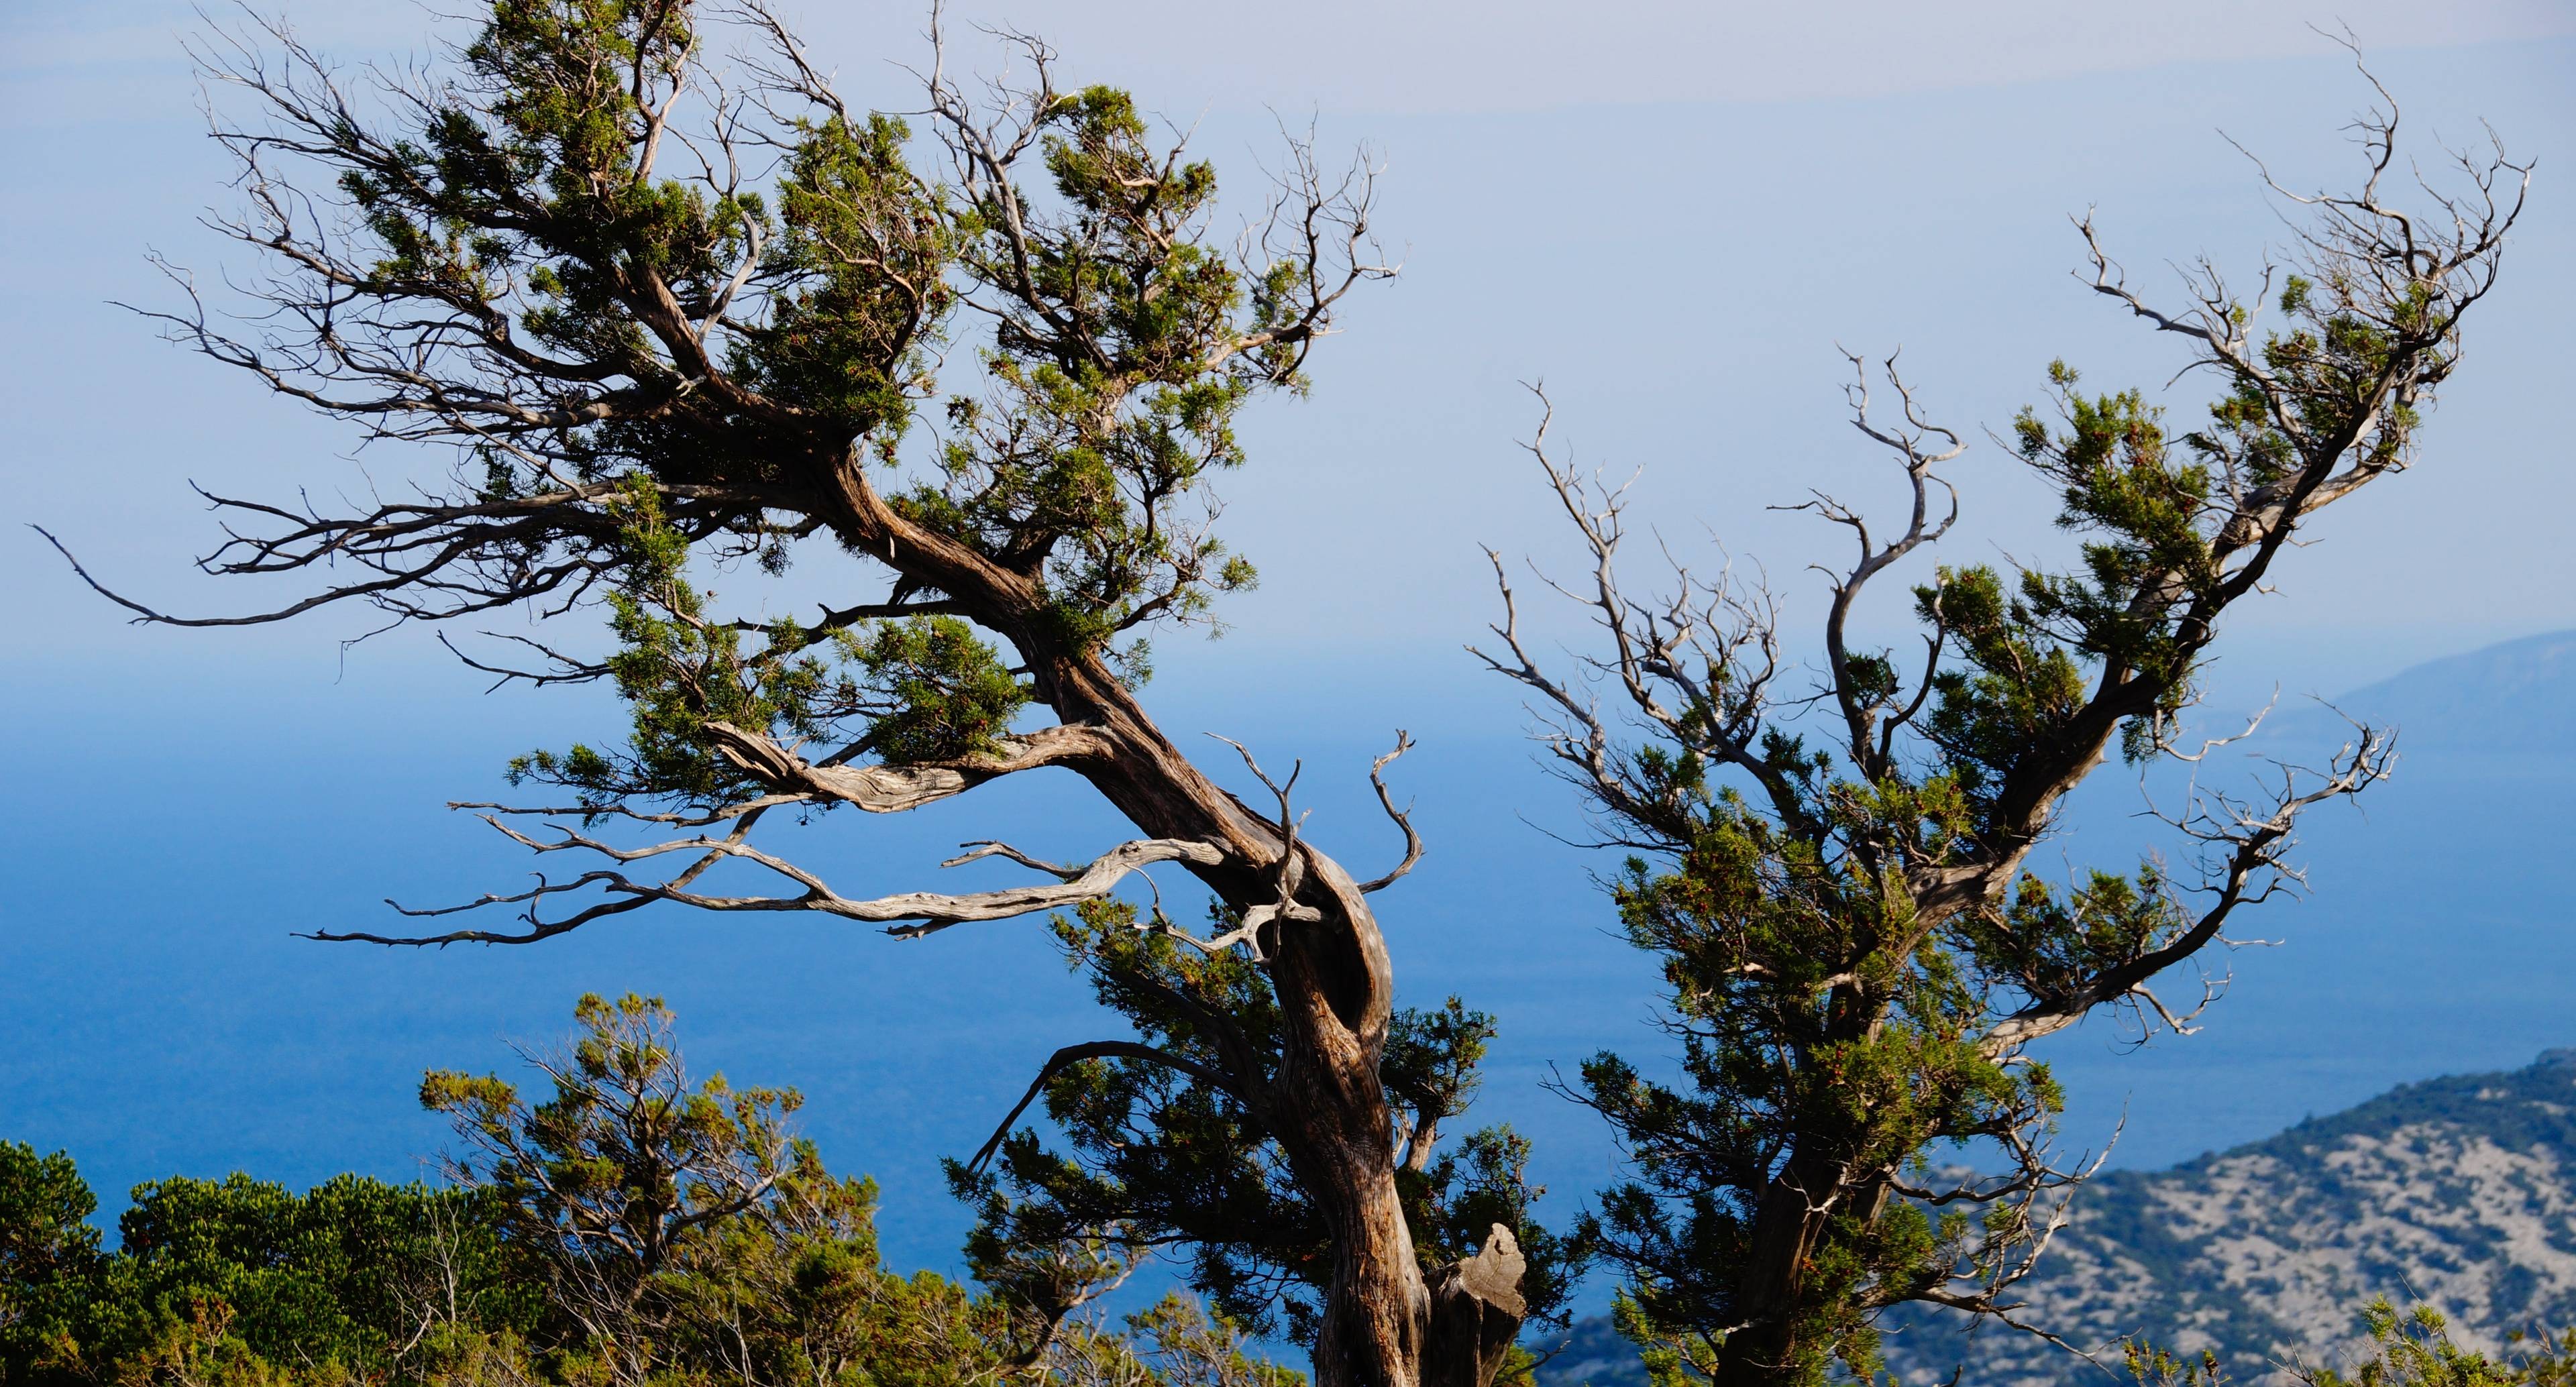
<svg viewBox="0 0 2576 1387"><path fill-rule="evenodd" d="M2020 1132L2061 1107L2045 1065L1978 1050L1986 1001L1950 947L1911 937L1901 893L1731 795L1674 870L1631 859L1615 896L1631 942L1664 957L1682 1083L1610 1052L1582 1065L1577 1096L1620 1132L1638 1179L1607 1189L1579 1238L1628 1274L1623 1323L1674 1372L1716 1372L1721 1336L1698 1325L1741 1318L1726 1271L1754 1258L1788 1150L1922 1173L1937 1143ZM1873 1024L1852 1027L1873 1004ZM1801 1266L1785 1338L1803 1359L1788 1372L1816 1377L1834 1356L1875 1366L1878 1294L1947 1279L1976 1256L1973 1233L1904 1199L1839 1209Z"/></svg>

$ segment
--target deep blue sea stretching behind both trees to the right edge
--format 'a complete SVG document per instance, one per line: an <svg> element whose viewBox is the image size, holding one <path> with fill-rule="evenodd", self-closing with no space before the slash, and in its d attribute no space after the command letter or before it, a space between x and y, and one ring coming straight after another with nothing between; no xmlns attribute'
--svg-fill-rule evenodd
<svg viewBox="0 0 2576 1387"><path fill-rule="evenodd" d="M1309 682L1265 674L1249 692L1175 679L1167 723L1303 757L1311 831L1360 872L1396 849L1365 764L1412 705L1422 746L1391 775L1432 852L1378 898L1404 998L1455 991L1502 1019L1481 1117L1538 1137L1564 1215L1615 1153L1540 1081L1605 1045L1654 1052L1651 968L1610 939L1587 880L1610 862L1540 831L1579 821L1533 767L1507 695L1355 682L1355 661L1319 661ZM644 911L523 950L294 939L384 926L381 896L456 901L523 880L523 854L438 805L497 790L507 751L559 744L592 710L448 684L402 661L358 661L340 682L209 669L188 690L8 684L13 726L44 736L18 739L13 780L33 793L0 808L0 1135L70 1148L108 1212L124 1186L167 1173L402 1179L443 1137L412 1104L422 1068L507 1070L507 1042L559 1034L580 991L634 988L672 1001L698 1070L801 1088L827 1158L886 1186L889 1256L953 1269L963 1217L938 1158L981 1143L1048 1050L1115 1034L1041 926L896 944L793 916ZM2097 1145L2125 1114L2115 1163L2161 1166L2401 1081L2576 1042L2566 769L2563 749L2499 757L2470 726L2419 746L2360 813L2318 816L2300 852L2311 898L2239 929L2282 944L2228 960L2233 991L2202 1034L2133 1050L2089 1022L2050 1042L2074 1094L2066 1143ZM2136 787L2107 772L2069 859L2097 844L2128 859L2133 808ZM891 890L922 885L974 836L1061 857L1118 829L1069 777L1025 777L781 841L842 890Z"/></svg>

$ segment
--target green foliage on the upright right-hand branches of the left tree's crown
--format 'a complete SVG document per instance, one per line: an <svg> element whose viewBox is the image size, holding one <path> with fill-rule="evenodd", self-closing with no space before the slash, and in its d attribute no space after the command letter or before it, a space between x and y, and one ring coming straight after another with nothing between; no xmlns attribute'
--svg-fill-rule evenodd
<svg viewBox="0 0 2576 1387"><path fill-rule="evenodd" d="M1234 355L1285 324L1275 293L1206 242L1216 170L1149 144L1133 98L1064 95L1043 116L1064 216L1030 226L1020 193L981 188L961 265L1012 304L984 353L989 396L953 396L940 476L904 515L1043 579L1059 638L1100 643L1154 618L1203 620L1255 571L1175 502L1242 466L1236 412L1296 368L1288 345Z"/></svg>

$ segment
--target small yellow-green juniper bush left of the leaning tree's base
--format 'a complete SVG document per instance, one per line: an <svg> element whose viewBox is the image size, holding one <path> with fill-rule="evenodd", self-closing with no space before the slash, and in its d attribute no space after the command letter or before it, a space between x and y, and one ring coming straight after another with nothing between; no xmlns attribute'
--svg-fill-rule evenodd
<svg viewBox="0 0 2576 1387"><path fill-rule="evenodd" d="M448 1181L541 1287L526 1341L546 1379L1048 1382L1046 1356L1082 1346L1079 1328L1059 1338L1069 1307L886 1271L876 1184L829 1173L791 1132L793 1088L690 1083L662 998L585 996L574 1019L569 1045L520 1050L544 1094L497 1073L420 1081L459 1137Z"/></svg>

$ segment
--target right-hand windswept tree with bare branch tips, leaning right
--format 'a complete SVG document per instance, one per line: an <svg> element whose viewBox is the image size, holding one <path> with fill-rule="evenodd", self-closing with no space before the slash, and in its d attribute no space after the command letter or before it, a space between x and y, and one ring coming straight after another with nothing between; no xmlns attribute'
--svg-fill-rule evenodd
<svg viewBox="0 0 2576 1387"><path fill-rule="evenodd" d="M2151 764L2215 746L2184 741L2182 715L2221 620L2321 510L2414 463L2463 317L2496 283L2530 165L2501 147L2460 157L2465 183L2409 208L2391 190L2396 103L2357 129L2357 193L2275 185L2308 219L2251 291L2202 262L2182 306L2156 306L2081 221L2081 280L2179 342L2215 399L2174 427L2146 394L2092 394L2050 365L2053 409L2022 412L2004 443L2058 491L2076 561L1932 566L1911 587L1911 651L1865 646L1855 618L1880 574L1950 530L1940 468L1965 440L1893 358L1852 358L1852 425L1911 507L1886 528L1821 494L1801 507L1855 540L1808 656L1821 687L1788 664L1757 587L1685 569L1631 594L1628 491L1561 463L1546 427L1533 440L1589 553L1561 592L1600 643L1551 672L1497 558L1486 659L1535 695L1553 764L1633 852L1620 921L1664 960L1680 1076L1600 1055L1571 1086L1633 1161L1582 1233L1625 1274L1620 1312L1664 1372L1821 1382L1839 1359L1865 1374L1870 1325L1899 1302L2020 1325L2012 1284L2087 1173L2050 1155L2061 1094L2030 1045L2097 1011L2187 1029L2215 993L2202 955L2298 885L2285 854L2303 811L2388 775L2388 736L2354 728L2318 769L2195 782L2166 808L2187 862L2071 883L2030 867L2115 749ZM1891 394L1873 394L1878 376ZM2166 998L2177 973L2195 1001ZM1953 1176L1960 1163L1991 1173Z"/></svg>

